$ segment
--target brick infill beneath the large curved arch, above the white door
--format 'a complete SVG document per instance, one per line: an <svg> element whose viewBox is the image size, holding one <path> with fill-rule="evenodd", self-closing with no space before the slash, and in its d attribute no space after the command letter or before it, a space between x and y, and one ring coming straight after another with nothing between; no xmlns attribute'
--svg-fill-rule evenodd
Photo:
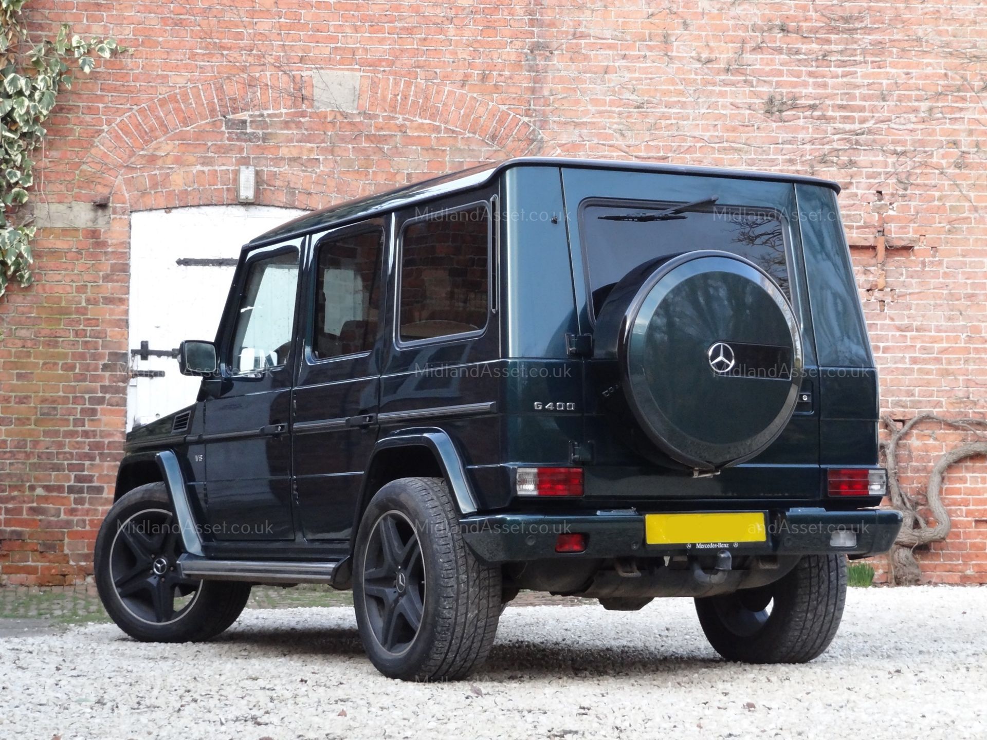
<svg viewBox="0 0 987 740"><path fill-rule="evenodd" d="M230 128L222 121L205 121L180 129L135 154L120 170L113 213L235 203L238 165L245 162L258 168L256 203L314 210L505 156L478 136L393 113L364 111L354 121L337 111L328 117L287 111L265 114L259 122L258 130L285 142L290 155L269 144L252 154L255 140L248 137L258 131L248 125ZM313 126L323 136L307 138ZM400 144L396 135L404 139ZM203 150L202 141L221 151ZM388 148L395 146L400 151L392 157ZM373 160L372 177L367 177L367 158Z"/></svg>

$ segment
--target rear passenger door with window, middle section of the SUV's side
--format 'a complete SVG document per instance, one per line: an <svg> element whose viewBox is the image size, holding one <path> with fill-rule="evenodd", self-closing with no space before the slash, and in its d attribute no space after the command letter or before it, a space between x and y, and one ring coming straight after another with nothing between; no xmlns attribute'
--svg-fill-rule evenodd
<svg viewBox="0 0 987 740"><path fill-rule="evenodd" d="M312 239L295 389L294 473L307 540L346 540L377 439L385 277L382 219Z"/></svg>

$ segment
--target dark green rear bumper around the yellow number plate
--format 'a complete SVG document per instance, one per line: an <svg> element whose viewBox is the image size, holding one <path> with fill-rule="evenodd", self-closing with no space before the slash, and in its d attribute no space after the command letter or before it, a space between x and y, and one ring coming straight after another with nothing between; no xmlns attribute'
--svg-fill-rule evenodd
<svg viewBox="0 0 987 740"><path fill-rule="evenodd" d="M901 514L884 509L826 511L797 508L770 512L765 542L713 543L684 546L645 544L645 515L633 510L593 514L493 514L460 520L470 548L487 562L522 562L547 558L648 557L713 555L877 555L886 553L901 529ZM852 546L834 545L833 534L855 535ZM586 535L582 553L556 553L561 534ZM838 536L837 541L846 540Z"/></svg>

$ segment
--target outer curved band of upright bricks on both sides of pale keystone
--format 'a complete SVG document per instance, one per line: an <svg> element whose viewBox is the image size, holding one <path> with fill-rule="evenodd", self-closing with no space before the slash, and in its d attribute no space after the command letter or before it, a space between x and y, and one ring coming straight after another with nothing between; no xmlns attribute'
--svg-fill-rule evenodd
<svg viewBox="0 0 987 740"><path fill-rule="evenodd" d="M247 112L314 111L312 81L266 73L210 80L172 91L118 118L79 168L75 199L107 203L128 164L176 132ZM360 114L429 122L487 142L508 156L538 151L541 132L522 116L471 93L429 82L363 75Z"/></svg>

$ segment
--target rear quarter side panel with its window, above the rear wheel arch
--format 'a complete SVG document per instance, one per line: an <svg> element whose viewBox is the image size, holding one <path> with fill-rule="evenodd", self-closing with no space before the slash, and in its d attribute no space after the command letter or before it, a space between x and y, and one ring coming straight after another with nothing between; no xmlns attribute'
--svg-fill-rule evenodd
<svg viewBox="0 0 987 740"><path fill-rule="evenodd" d="M494 193L458 193L396 214L380 389L381 434L442 429L478 491L502 484Z"/></svg>

